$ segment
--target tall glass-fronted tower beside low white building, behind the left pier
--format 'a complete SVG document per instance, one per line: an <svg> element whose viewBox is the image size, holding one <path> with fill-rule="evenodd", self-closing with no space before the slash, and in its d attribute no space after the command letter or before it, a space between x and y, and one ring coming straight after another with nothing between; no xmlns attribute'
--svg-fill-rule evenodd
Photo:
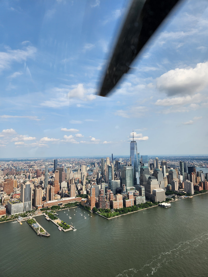
<svg viewBox="0 0 208 277"><path fill-rule="evenodd" d="M24 203L24 212L32 210L32 185L29 181L21 184L20 200Z"/></svg>

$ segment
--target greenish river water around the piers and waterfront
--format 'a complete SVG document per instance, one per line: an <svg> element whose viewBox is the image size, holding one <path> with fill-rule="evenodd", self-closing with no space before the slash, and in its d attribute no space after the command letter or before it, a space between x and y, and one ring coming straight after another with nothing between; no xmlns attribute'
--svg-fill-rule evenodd
<svg viewBox="0 0 208 277"><path fill-rule="evenodd" d="M84 219L82 209L72 208L72 219L67 210L58 213L77 231L60 232L44 216L36 217L48 238L26 222L1 223L0 275L207 276L207 208L208 194L111 220L86 211Z"/></svg>

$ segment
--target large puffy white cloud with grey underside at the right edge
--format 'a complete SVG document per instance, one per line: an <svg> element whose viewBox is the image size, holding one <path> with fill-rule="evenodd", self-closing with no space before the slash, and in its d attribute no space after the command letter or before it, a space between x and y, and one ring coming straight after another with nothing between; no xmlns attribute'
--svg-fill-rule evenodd
<svg viewBox="0 0 208 277"><path fill-rule="evenodd" d="M193 94L208 85L208 62L197 63L195 68L176 68L156 79L156 88L167 95Z"/></svg>

